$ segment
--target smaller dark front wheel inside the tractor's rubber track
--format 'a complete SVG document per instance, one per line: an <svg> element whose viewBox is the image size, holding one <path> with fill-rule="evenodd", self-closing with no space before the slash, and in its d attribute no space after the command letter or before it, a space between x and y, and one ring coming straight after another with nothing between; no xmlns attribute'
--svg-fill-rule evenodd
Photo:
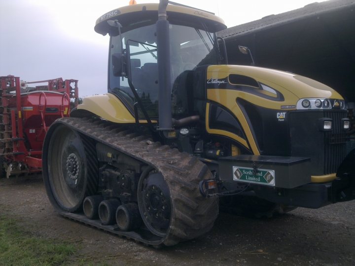
<svg viewBox="0 0 355 266"><path fill-rule="evenodd" d="M169 187L160 172L151 167L142 172L138 184L138 206L148 230L164 237L172 217Z"/></svg>

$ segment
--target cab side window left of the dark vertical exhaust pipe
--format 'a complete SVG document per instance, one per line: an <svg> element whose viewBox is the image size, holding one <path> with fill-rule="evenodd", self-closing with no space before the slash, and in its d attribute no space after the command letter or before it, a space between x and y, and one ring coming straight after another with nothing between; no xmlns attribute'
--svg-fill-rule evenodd
<svg viewBox="0 0 355 266"><path fill-rule="evenodd" d="M112 36L109 56L109 84L108 90L117 97L129 102L133 111L133 104L138 96L150 118L158 116L158 64L156 47L155 24L122 33L121 36ZM129 86L128 78L114 75L111 56L113 54L126 54L129 58L125 69L126 75L132 81L135 91ZM137 93L137 94L136 94ZM140 105L138 114L144 119Z"/></svg>

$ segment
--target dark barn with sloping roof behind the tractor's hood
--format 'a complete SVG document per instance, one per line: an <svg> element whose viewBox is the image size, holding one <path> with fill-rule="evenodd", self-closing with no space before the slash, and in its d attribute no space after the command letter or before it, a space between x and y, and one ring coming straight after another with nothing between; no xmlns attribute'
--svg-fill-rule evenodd
<svg viewBox="0 0 355 266"><path fill-rule="evenodd" d="M229 64L249 65L249 55L238 49L247 46L256 66L311 77L355 102L355 0L311 3L219 35L226 41Z"/></svg>

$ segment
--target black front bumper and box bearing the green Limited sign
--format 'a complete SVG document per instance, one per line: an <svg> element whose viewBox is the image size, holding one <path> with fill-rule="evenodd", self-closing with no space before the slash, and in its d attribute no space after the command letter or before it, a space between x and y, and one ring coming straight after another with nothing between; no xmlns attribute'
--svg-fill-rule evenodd
<svg viewBox="0 0 355 266"><path fill-rule="evenodd" d="M315 180L314 176L311 178L307 158L224 157L218 162L219 185L214 195L249 195L285 205L319 208L355 199L353 162L355 150L336 174L316 176ZM267 182L269 173L272 178Z"/></svg>

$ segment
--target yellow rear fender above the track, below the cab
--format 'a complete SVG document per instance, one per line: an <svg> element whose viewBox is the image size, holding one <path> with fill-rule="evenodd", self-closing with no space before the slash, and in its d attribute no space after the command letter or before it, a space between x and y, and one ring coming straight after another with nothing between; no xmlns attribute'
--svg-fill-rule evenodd
<svg viewBox="0 0 355 266"><path fill-rule="evenodd" d="M136 123L135 118L127 110L125 105L116 96L110 93L85 97L83 103L79 104L77 109L87 110L114 123ZM146 120L140 120L139 122L147 123ZM156 123L156 121L152 122Z"/></svg>

